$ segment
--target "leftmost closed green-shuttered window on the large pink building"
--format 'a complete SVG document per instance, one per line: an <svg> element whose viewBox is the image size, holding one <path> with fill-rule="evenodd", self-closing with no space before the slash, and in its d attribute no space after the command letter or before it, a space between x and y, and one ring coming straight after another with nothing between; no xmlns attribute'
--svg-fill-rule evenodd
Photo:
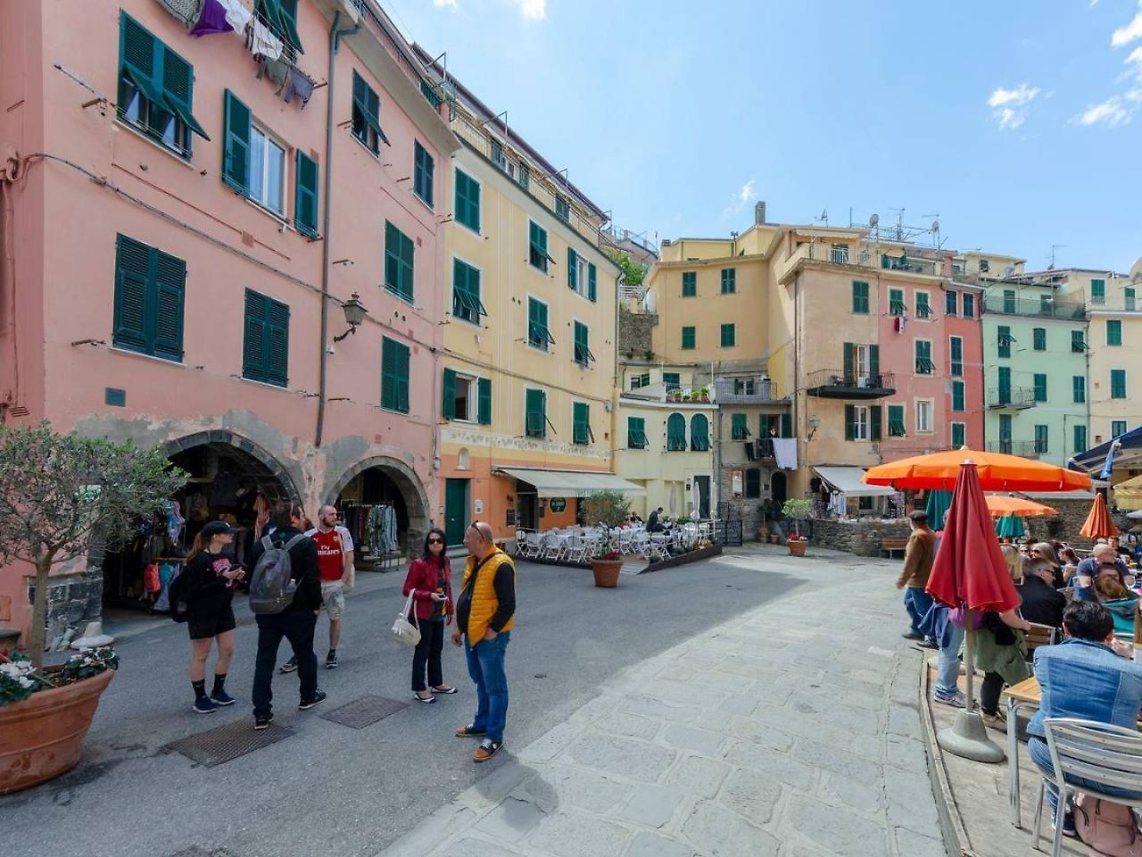
<svg viewBox="0 0 1142 857"><path fill-rule="evenodd" d="M115 347L182 361L186 263L120 234L115 241Z"/></svg>

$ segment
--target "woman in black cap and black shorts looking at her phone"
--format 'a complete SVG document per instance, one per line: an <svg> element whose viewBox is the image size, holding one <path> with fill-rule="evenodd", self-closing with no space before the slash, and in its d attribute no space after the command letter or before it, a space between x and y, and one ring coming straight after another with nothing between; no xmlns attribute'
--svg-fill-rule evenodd
<svg viewBox="0 0 1142 857"><path fill-rule="evenodd" d="M225 521L210 521L194 537L183 575L186 598L186 626L191 632L191 687L194 711L212 714L219 705L233 705L226 692L226 671L234 655L234 586L246 575L223 551L238 532ZM214 689L207 696L206 668L211 644L218 642Z"/></svg>

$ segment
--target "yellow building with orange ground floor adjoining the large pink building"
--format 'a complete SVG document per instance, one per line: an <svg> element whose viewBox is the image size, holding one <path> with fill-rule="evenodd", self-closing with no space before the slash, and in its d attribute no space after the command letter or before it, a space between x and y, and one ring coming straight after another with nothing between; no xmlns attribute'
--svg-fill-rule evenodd
<svg viewBox="0 0 1142 857"><path fill-rule="evenodd" d="M619 269L605 217L455 79L441 80L464 143L448 167L440 510L498 538L576 522L578 497L635 490L612 467Z"/></svg>

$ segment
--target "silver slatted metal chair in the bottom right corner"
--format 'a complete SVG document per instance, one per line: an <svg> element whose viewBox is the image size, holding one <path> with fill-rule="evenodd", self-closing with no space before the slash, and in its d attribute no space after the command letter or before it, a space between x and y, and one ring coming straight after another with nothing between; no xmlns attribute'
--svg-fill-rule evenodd
<svg viewBox="0 0 1142 857"><path fill-rule="evenodd" d="M1043 729L1051 751L1055 787L1059 790L1059 808L1065 812L1070 794L1089 794L1115 803L1142 809L1142 795L1119 798L1107 794L1097 786L1137 790L1142 793L1142 735L1133 729L1124 729L1110 723L1072 718L1048 718ZM1012 762L1014 763L1014 762ZM1081 777L1094 786L1077 786L1067 776ZM1039 830L1043 823L1043 804L1046 800L1047 775L1039 777L1039 794L1035 804L1035 850L1039 848ZM1055 810L1057 816L1059 810ZM1059 857L1063 843L1062 819L1055 824L1052 857Z"/></svg>

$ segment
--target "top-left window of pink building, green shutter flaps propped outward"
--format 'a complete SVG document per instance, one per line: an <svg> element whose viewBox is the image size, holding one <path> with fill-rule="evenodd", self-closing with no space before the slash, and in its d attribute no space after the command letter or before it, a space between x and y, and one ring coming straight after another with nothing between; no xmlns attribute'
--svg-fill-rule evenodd
<svg viewBox="0 0 1142 857"><path fill-rule="evenodd" d="M118 115L180 158L191 157L191 134L210 137L191 113L194 66L135 18L119 18Z"/></svg>

